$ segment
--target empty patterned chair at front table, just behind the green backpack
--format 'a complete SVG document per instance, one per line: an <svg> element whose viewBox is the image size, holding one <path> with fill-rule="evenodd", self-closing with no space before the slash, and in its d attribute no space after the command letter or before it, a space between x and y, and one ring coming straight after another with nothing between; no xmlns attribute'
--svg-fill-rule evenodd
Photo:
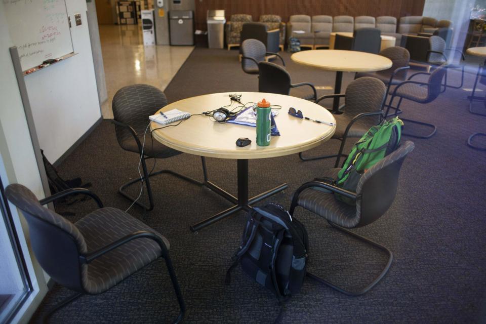
<svg viewBox="0 0 486 324"><path fill-rule="evenodd" d="M336 157L335 167L337 168L343 155L346 139L348 137L361 137L365 135L370 127L379 124L383 120L385 93L386 87L383 82L377 78L365 76L351 82L344 94L319 97L316 102L323 99L344 97L343 113L334 115L334 118L336 118L336 131L332 136L332 138L341 141L341 146L338 154L304 157L301 152L299 153L300 159L303 161L311 161Z"/></svg>

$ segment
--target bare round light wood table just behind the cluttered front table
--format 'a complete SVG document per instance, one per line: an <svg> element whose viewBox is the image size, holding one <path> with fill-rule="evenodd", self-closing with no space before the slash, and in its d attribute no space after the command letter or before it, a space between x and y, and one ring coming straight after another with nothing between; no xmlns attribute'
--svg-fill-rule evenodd
<svg viewBox="0 0 486 324"><path fill-rule="evenodd" d="M292 54L292 61L317 67L323 70L336 71L334 94L341 93L344 72L372 72L391 67L389 58L381 55L342 50L312 50ZM334 98L333 113L339 113L339 97Z"/></svg>

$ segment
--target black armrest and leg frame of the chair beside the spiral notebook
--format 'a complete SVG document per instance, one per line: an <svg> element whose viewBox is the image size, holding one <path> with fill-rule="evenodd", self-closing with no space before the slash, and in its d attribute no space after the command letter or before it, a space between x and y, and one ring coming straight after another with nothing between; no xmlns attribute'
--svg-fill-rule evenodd
<svg viewBox="0 0 486 324"><path fill-rule="evenodd" d="M130 133L132 134L133 138L135 139L135 141L137 142L137 146L138 146L138 151L140 152L140 155L142 155L142 152L143 152L143 147L142 147L142 143L140 143L140 139L138 138L137 136L137 132L129 125L127 124L124 124L124 123L120 123L119 121L117 120L114 120L112 119L111 120L111 123L113 123L114 125L116 126L120 126L120 127L124 127L124 128L127 128L128 130L130 130ZM146 143L145 143L146 144ZM170 175L173 175L177 178L180 178L180 179L183 179L183 180L186 180L188 182L191 182L193 184L196 184L198 186L202 186L202 185L205 185L206 183L208 183L208 175L207 175L207 169L206 169L206 160L205 160L205 157L204 156L201 156L201 162L203 164L203 173L204 173L204 182L201 182L201 181L197 181L195 179L192 179L190 177L187 177L183 174L180 174L178 172L175 172L175 171L172 171L172 170L160 170L160 171L157 171L157 172L151 172L149 173L148 172L148 169L147 169L147 164L145 162L146 159L149 159L149 158L152 158L152 157L149 157L149 156L141 156L141 165L142 165L142 172L143 172L143 179L141 178L136 178L134 180L131 180L123 185L121 185L119 188L118 188L118 192L123 195L124 197L128 198L129 200L131 201L135 201L135 204L144 208L145 210L147 211L151 211L153 210L153 207L154 207L154 201L153 201L153 193L152 193L152 188L150 186L150 177L153 177L153 176L156 176L158 174L163 174L163 173L166 173L166 174L170 174ZM135 183L138 183L138 182L145 182L145 186L147 188L147 193L148 193L148 201L149 201L149 205L147 206L146 204L144 203L141 203L139 200L136 200L135 197L131 196L130 194L128 194L127 192L125 192L125 189Z"/></svg>

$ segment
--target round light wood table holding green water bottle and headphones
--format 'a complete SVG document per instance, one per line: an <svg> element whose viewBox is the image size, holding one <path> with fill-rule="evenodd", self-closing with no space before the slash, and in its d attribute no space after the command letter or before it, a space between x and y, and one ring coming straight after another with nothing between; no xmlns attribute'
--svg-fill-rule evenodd
<svg viewBox="0 0 486 324"><path fill-rule="evenodd" d="M249 159L277 157L302 152L318 146L323 141L327 141L333 136L336 130L334 116L327 109L311 101L278 94L242 92L240 101L244 104L256 103L265 98L272 105L281 106L277 110L278 114L274 117L280 136L272 136L269 146L258 146L256 143L255 127L232 123L218 123L213 118L201 114L205 111L216 110L225 105L229 105L231 102L229 95L230 93L209 94L171 103L159 111L166 112L177 108L181 111L191 113L191 117L181 121L175 127L161 128L164 125L156 122L152 122L150 125L153 138L170 148L185 153L200 155L203 159L204 157L237 159L237 197L208 181L206 170L204 170L204 185L229 200L234 206L205 221L190 226L193 232L238 211L248 211L251 209L252 204L287 188L287 184L282 184L253 198L249 198ZM238 106L241 106L241 104L233 102L231 107L226 108L238 111L240 109L237 108ZM251 104L247 106L251 106ZM301 110L305 117L320 120L322 123L318 124L306 119L294 117L288 114L290 107ZM334 126L327 124L334 124ZM252 143L245 147L238 147L235 143L240 137L248 137ZM282 166L282 168L285 168L285 166Z"/></svg>

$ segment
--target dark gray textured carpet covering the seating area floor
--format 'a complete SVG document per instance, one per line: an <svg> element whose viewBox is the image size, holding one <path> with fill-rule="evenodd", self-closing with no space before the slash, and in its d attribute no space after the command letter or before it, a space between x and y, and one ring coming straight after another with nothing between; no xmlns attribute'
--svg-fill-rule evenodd
<svg viewBox="0 0 486 324"><path fill-rule="evenodd" d="M297 66L283 54L293 83L334 86L334 73ZM344 87L353 74L344 73ZM450 79L459 74L451 72ZM473 76L466 75L466 88ZM257 76L241 71L237 51L195 49L166 89L170 102L215 92L257 91ZM319 91L320 94L331 91ZM486 316L486 152L466 145L471 133L486 130L486 117L467 111L467 92L448 89L434 102L402 104L405 118L437 125L429 140L411 139L415 150L403 164L392 207L378 221L356 232L394 253L388 274L369 293L349 297L311 279L287 306L283 323L480 323ZM322 105L330 106L331 102ZM482 103L480 103L482 107ZM208 107L211 108L211 107ZM418 128L406 125L408 132ZM348 143L350 147L352 143ZM482 143L484 144L484 143ZM330 140L308 154L334 153ZM122 150L113 126L103 123L59 167L66 179L81 177L105 206L126 209L130 203L116 189L138 176L138 156ZM208 158L210 179L236 193L236 161ZM287 182L289 188L268 198L287 208L298 186L321 176L334 160L304 163L297 154L250 161L250 194ZM156 170L171 169L200 179L198 156L181 154L158 160ZM276 299L239 267L224 285L230 257L238 247L245 214L220 221L193 234L189 225L229 207L208 189L170 176L152 181L154 211L130 213L171 241L171 255L187 303L186 323L268 323L277 315ZM134 192L137 188L134 188ZM144 196L146 198L146 195ZM75 221L95 208L93 201L58 210L75 211ZM379 273L386 258L297 209L307 227L309 270L347 288L358 288ZM70 292L56 285L32 322ZM159 260L99 296L84 296L57 312L51 322L160 323L177 314L164 262Z"/></svg>

